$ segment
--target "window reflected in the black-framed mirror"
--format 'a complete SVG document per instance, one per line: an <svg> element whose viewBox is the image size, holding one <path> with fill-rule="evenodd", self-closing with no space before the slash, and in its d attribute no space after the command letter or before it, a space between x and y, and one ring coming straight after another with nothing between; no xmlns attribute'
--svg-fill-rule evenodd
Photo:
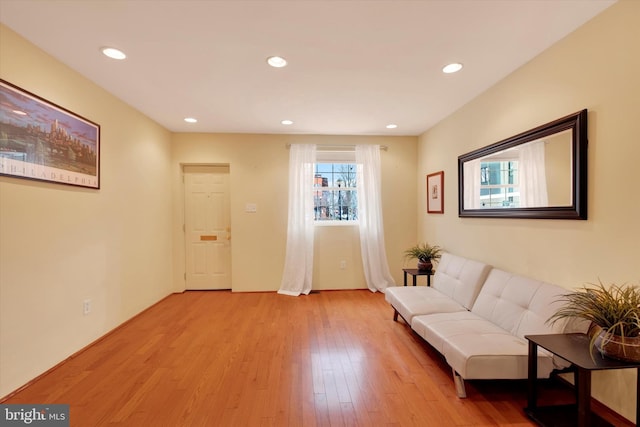
<svg viewBox="0 0 640 427"><path fill-rule="evenodd" d="M517 208L520 206L518 161L480 164L480 207Z"/></svg>

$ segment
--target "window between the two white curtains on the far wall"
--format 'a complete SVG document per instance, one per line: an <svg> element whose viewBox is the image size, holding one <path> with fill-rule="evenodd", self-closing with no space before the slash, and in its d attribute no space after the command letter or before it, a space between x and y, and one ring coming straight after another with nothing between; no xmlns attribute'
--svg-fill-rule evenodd
<svg viewBox="0 0 640 427"><path fill-rule="evenodd" d="M358 192L354 163L316 163L313 179L316 221L356 221Z"/></svg>

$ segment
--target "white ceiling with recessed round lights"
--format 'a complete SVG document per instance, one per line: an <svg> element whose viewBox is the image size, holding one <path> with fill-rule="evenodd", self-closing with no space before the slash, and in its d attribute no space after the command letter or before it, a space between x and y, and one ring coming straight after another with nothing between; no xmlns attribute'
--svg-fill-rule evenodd
<svg viewBox="0 0 640 427"><path fill-rule="evenodd" d="M0 0L0 22L171 131L418 135L613 3Z"/></svg>

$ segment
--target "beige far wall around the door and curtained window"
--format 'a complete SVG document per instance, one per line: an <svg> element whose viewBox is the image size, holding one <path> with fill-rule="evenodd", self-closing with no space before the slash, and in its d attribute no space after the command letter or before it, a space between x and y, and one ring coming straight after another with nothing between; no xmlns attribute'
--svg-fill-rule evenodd
<svg viewBox="0 0 640 427"><path fill-rule="evenodd" d="M286 251L287 144L380 144L385 243L389 268L401 283L402 251L416 236L416 137L247 134L175 134L172 143L174 290L184 289L183 164L229 164L231 177L232 286L234 291L275 291ZM245 205L255 203L256 213ZM357 227L316 227L313 289L365 288ZM340 261L346 269L340 269Z"/></svg>

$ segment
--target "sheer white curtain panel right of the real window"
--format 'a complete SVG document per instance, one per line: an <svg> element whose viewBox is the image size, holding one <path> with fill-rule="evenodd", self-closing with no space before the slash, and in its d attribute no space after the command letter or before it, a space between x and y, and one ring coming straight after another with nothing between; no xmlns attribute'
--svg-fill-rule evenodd
<svg viewBox="0 0 640 427"><path fill-rule="evenodd" d="M382 196L380 173L380 146L356 146L358 191L358 223L360 226L360 250L367 287L381 291L395 286L389 273L384 246L382 225Z"/></svg>

